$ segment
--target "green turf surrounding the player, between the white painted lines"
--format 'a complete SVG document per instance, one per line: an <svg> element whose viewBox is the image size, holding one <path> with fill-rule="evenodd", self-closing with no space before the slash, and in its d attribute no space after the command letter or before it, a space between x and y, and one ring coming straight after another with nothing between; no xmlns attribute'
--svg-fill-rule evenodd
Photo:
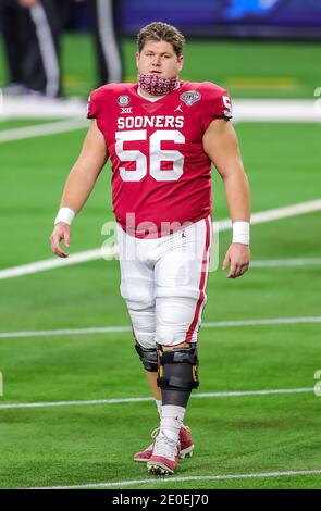
<svg viewBox="0 0 321 511"><path fill-rule="evenodd" d="M125 41L124 49L128 59L134 47ZM86 96L95 86L90 41L84 36L67 37L65 50L66 91ZM74 59L75 50L82 51L82 64ZM236 97L311 98L320 85L317 45L198 41L186 51L190 62L185 78L230 84ZM209 71L207 76L203 68ZM134 67L127 64L131 75ZM267 84L274 85L264 89ZM0 130L38 123L10 121L1 123ZM320 198L320 125L240 123L236 129L254 212ZM84 135L78 129L0 144L0 272L51 258L52 221ZM109 177L107 165L73 224L71 253L104 241L101 226L112 220ZM215 217L225 219L223 187L215 174L213 183ZM254 266L236 281L227 281L219 269L210 275L205 322L320 317L320 221L316 211L254 225L254 261L305 258L307 264ZM229 232L220 235L220 262L230 237ZM308 264L312 258L314 263ZM128 327L119 284L115 260L0 279L0 488L95 484L160 489L320 488L320 474L284 474L321 470L321 397L312 391L314 373L321 370L321 323L316 320L220 328L205 324L199 348L201 385L186 414L195 454L180 463L171 482L150 476L132 462L132 454L148 445L158 425L155 403L92 403L149 397L129 332L1 337L1 333ZM310 390L242 394L272 389ZM233 391L240 395L197 397ZM3 408L14 403L57 406ZM223 478L239 474L257 476Z"/></svg>

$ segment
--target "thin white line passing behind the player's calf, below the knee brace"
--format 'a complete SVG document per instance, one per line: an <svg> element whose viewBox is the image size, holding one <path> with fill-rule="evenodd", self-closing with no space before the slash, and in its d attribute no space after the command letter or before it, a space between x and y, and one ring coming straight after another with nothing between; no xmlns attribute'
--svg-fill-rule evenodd
<svg viewBox="0 0 321 511"><path fill-rule="evenodd" d="M306 394L312 392L313 388L276 388L270 390L235 390L231 392L203 392L192 394L190 399L206 398L237 398L244 396L272 396L283 394ZM122 399L94 399L87 401L53 401L53 402L21 402L0 404L0 410L4 409L26 409L26 408L52 408L52 407L84 407L94 404L123 404L144 401L153 401L153 398L122 398Z"/></svg>

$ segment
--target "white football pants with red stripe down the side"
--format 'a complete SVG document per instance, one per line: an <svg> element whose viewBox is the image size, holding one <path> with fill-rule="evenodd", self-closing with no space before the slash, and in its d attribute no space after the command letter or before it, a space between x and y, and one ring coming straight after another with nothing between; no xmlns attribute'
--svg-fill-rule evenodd
<svg viewBox="0 0 321 511"><path fill-rule="evenodd" d="M183 230L139 239L118 225L121 295L144 348L197 342L207 301L210 216Z"/></svg>

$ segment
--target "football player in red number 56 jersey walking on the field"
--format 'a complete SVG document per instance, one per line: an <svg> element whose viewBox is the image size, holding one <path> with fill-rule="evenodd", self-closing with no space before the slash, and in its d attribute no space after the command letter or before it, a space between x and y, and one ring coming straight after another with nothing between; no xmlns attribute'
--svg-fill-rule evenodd
<svg viewBox="0 0 321 511"><path fill-rule="evenodd" d="M211 163L222 177L233 222L223 269L249 265L249 185L230 122L229 94L215 84L180 80L184 36L153 22L138 34L138 83L90 95L92 120L72 169L51 236L67 257L70 224L108 158L112 163L121 294L135 348L153 392L160 425L134 456L155 474L174 473L194 445L183 420L198 387L198 331L207 301L212 240Z"/></svg>

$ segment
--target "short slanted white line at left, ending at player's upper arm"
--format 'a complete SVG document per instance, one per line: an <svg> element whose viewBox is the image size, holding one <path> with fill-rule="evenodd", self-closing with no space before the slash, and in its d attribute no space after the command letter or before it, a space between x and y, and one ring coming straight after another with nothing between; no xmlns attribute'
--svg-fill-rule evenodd
<svg viewBox="0 0 321 511"><path fill-rule="evenodd" d="M45 135L73 132L75 129L83 129L88 126L89 124L86 119L72 119L67 121L58 121L54 123L38 124L35 126L5 129L0 132L0 144L12 140L24 140L26 138L42 137Z"/></svg>

